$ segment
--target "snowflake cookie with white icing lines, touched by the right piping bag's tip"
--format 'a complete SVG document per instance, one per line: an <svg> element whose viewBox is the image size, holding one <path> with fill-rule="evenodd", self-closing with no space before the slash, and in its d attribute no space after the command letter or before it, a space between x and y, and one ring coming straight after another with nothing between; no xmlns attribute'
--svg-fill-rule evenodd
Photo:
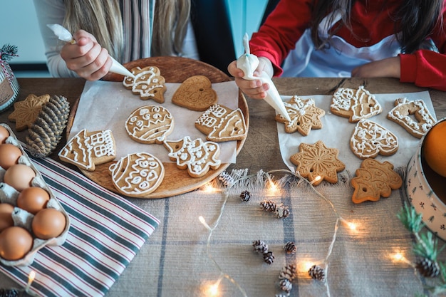
<svg viewBox="0 0 446 297"><path fill-rule="evenodd" d="M313 99L302 99L294 95L289 102L284 103L291 122L282 115L276 115L276 121L285 124L285 132L299 132L301 135L308 135L311 129L321 129L321 118L325 111L317 108Z"/></svg>

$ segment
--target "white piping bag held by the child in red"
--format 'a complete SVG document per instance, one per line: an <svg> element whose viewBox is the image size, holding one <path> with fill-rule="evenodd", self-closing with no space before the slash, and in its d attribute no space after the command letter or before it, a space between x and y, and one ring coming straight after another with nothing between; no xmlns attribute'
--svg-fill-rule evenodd
<svg viewBox="0 0 446 297"><path fill-rule="evenodd" d="M244 79L246 80L261 80L262 83L268 83L269 90L266 91L266 97L264 100L266 103L271 105L285 120L291 122L291 118L289 117L288 112L286 111L284 101L280 98L279 92L277 91L276 85L274 85L271 78L269 78L268 74L264 71L261 73L261 76L254 76L254 71L257 66L259 66L259 58L256 55L253 55L249 51L249 39L248 34L245 33L243 36L243 46L244 46L244 54L237 59L237 68L241 69L244 72Z"/></svg>

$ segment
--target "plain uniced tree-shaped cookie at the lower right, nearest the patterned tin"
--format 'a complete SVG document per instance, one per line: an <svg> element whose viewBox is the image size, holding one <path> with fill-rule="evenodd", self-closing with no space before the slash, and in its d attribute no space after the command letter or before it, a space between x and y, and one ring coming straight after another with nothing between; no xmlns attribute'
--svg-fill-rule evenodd
<svg viewBox="0 0 446 297"><path fill-rule="evenodd" d="M393 189L399 189L403 185L403 179L393 171L390 162L380 163L374 159L365 159L356 170L356 177L351 179L351 185L355 188L352 201L361 203L389 197Z"/></svg>

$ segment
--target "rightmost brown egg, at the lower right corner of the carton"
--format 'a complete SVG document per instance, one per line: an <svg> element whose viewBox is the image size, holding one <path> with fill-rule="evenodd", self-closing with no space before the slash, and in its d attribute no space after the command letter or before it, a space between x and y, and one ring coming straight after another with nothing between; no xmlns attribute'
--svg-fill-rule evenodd
<svg viewBox="0 0 446 297"><path fill-rule="evenodd" d="M53 208L42 209L34 216L31 223L34 235L40 239L51 239L61 235L65 225L65 215Z"/></svg>

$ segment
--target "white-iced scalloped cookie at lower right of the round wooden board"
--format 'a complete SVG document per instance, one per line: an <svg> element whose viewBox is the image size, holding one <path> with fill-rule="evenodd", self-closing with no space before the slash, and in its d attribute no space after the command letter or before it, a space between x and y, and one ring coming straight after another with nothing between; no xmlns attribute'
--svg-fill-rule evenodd
<svg viewBox="0 0 446 297"><path fill-rule="evenodd" d="M165 140L169 158L177 162L180 170L186 170L191 177L202 177L209 169L217 170L222 164L218 160L220 147L217 142L203 142L201 138L191 140L185 136L180 140Z"/></svg>

